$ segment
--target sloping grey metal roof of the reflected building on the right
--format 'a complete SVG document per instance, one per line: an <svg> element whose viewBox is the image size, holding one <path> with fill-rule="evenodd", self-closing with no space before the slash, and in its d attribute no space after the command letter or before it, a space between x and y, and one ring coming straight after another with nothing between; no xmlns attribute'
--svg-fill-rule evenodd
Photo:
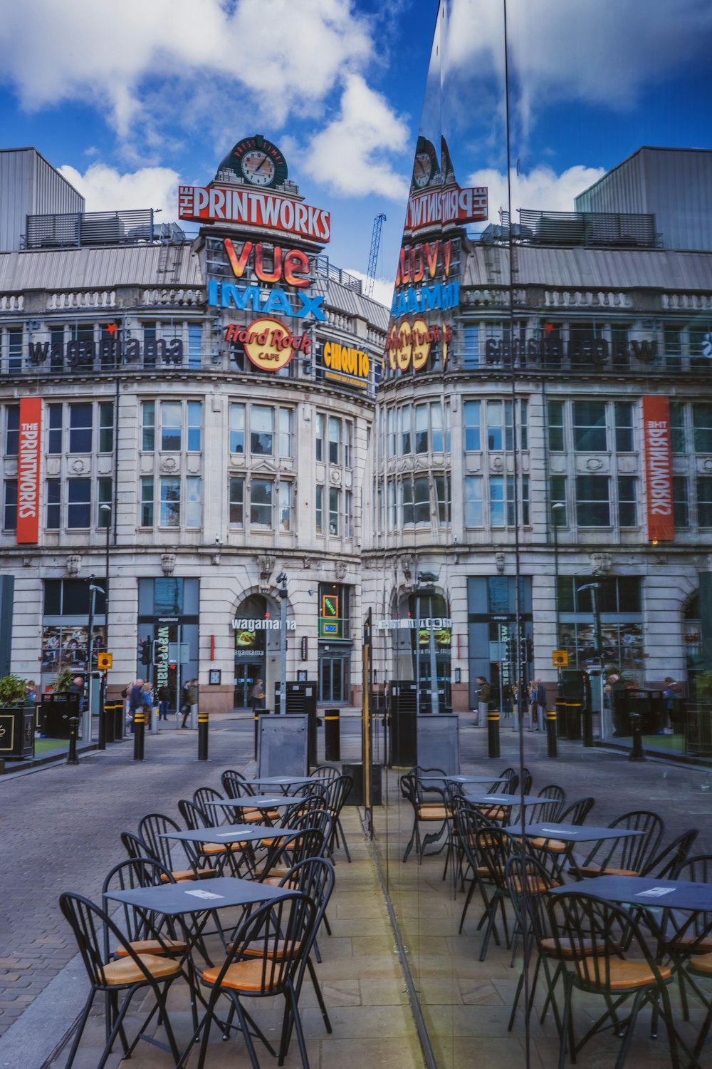
<svg viewBox="0 0 712 1069"><path fill-rule="evenodd" d="M515 267L517 285L712 292L712 252L516 245ZM506 246L470 247L462 273L463 285L506 285L508 276Z"/></svg>

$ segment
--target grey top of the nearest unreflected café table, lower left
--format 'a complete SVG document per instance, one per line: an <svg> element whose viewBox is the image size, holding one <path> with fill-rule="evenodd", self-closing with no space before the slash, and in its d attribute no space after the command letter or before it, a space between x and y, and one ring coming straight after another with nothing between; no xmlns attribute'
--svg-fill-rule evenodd
<svg viewBox="0 0 712 1069"><path fill-rule="evenodd" d="M238 880L235 877L217 877L215 880L163 883L158 887L109 890L107 898L174 917L183 913L222 910L228 905L269 902L289 894L291 892L288 887L272 887L271 884Z"/></svg>

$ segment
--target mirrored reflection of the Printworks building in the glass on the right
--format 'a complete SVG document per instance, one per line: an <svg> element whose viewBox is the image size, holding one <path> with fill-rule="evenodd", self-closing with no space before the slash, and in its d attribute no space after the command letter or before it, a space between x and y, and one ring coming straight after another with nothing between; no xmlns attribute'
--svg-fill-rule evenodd
<svg viewBox="0 0 712 1069"><path fill-rule="evenodd" d="M712 638L712 153L640 150L580 211L475 235L487 190L427 133L368 479L377 671L420 677L422 709L450 683L476 708L484 676L506 710L518 666L553 694L554 651L690 682Z"/></svg>

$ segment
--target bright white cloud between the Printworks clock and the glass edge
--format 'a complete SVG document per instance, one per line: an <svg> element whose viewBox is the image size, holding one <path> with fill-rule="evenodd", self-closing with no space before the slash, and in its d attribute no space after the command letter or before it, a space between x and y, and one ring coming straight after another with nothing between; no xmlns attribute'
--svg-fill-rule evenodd
<svg viewBox="0 0 712 1069"><path fill-rule="evenodd" d="M301 170L341 196L379 193L405 204L408 180L393 170L385 153L405 152L409 141L408 126L385 97L359 75L348 75L341 112L312 138Z"/></svg>

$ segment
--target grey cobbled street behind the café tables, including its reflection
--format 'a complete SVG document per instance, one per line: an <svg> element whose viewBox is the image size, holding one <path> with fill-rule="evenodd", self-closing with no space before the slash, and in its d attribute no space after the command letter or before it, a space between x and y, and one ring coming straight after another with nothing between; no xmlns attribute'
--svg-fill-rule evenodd
<svg viewBox="0 0 712 1069"><path fill-rule="evenodd" d="M342 725L342 758L358 759L358 721L344 717ZM62 764L0 779L0 1035L76 952L59 914L59 894L78 889L96 898L105 873L122 859L120 832L136 830L146 812L175 812L178 796L190 796L203 784L219 786L223 769L243 769L252 760L252 732L249 719L216 719L209 762L195 760L194 732L171 727L146 739L143 763L131 760L131 743L125 742L83 758L78 766ZM501 770L518 762L518 739L506 722L497 760L487 759L487 731L473 729L471 717L462 717L460 734L463 771ZM666 838L696 826L700 837L695 850L712 850L712 773L658 761L631 763L626 755L567 742L559 743L560 757L554 761L547 758L543 734L526 733L524 750L535 791L557 783L570 800L594 794L597 823L627 809L651 808L663 816ZM397 775L387 776L392 799Z"/></svg>

